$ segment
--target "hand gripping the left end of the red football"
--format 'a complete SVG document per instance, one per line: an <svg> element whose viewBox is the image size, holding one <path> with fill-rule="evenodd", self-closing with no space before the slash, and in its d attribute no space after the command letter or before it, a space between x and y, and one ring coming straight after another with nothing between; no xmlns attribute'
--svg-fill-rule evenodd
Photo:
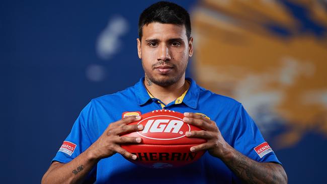
<svg viewBox="0 0 327 184"><path fill-rule="evenodd" d="M115 153L120 153L126 158L136 159L136 155L133 155L120 147L121 144L137 144L142 141L140 137L125 137L120 136L123 133L136 132L142 130L143 125L128 125L132 122L139 121L140 116L131 116L114 123L109 124L107 129L94 142L88 149L91 155L95 159L107 158Z"/></svg>

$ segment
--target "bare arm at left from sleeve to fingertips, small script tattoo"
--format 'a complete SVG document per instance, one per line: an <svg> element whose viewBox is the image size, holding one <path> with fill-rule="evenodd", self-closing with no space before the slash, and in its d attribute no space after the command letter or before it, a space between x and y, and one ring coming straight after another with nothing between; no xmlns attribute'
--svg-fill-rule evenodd
<svg viewBox="0 0 327 184"><path fill-rule="evenodd" d="M86 151L68 163L54 161L42 178L42 183L81 183L91 169L102 159L120 153L126 158L136 159L133 155L120 147L120 144L136 144L140 137L120 137L122 133L135 132L143 126L128 125L140 120L139 116L131 116L111 123L99 139Z"/></svg>

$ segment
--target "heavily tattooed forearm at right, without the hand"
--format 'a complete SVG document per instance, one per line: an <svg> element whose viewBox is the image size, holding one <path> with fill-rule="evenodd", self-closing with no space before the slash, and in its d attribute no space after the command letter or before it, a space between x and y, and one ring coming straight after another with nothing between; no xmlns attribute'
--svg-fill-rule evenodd
<svg viewBox="0 0 327 184"><path fill-rule="evenodd" d="M223 161L246 183L287 183L287 175L280 164L254 161L232 147Z"/></svg>

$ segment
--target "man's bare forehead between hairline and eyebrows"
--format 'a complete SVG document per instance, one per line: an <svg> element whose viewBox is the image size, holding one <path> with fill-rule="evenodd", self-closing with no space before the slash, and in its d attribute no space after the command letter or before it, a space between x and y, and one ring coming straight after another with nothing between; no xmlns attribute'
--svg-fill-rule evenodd
<svg viewBox="0 0 327 184"><path fill-rule="evenodd" d="M187 39L184 25L150 23L142 28L142 40L159 39L168 40L171 38Z"/></svg>

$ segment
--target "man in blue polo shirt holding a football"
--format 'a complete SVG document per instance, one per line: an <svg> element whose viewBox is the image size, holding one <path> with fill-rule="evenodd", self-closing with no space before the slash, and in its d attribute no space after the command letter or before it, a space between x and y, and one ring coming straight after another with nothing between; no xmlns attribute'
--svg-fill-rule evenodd
<svg viewBox="0 0 327 184"><path fill-rule="evenodd" d="M159 2L145 9L137 39L145 77L86 106L42 183L95 179L97 183L286 183L286 173L271 148L262 153L254 149L268 144L241 104L185 79L193 54L190 35L189 14L182 7ZM158 109L184 113L184 122L203 129L186 133L207 140L191 148L192 152L207 150L201 159L170 169L143 168L124 159L137 157L120 145L138 144L142 139L119 135L140 131L143 126L129 125L140 117L121 119L122 113L144 114Z"/></svg>

